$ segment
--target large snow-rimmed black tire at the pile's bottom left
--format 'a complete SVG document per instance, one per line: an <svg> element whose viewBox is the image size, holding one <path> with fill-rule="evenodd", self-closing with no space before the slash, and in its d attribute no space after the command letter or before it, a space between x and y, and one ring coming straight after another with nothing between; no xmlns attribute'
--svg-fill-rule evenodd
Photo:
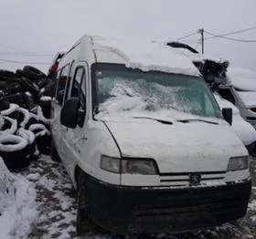
<svg viewBox="0 0 256 239"><path fill-rule="evenodd" d="M27 153L27 141L16 135L0 137L0 156L9 170L25 168L30 160Z"/></svg>

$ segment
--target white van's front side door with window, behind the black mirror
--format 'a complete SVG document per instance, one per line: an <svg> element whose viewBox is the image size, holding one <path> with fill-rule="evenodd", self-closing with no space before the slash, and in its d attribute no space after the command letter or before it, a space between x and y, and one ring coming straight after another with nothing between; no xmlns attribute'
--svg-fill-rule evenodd
<svg viewBox="0 0 256 239"><path fill-rule="evenodd" d="M81 155L81 149L86 143L86 122L88 119L88 110L86 110L87 96L87 80L88 68L85 63L76 64L74 77L70 84L69 98L80 99L78 112L77 127L75 129L66 128L63 137L63 152L62 161L66 166L69 175L71 175L74 167L74 161L80 161L84 158Z"/></svg>

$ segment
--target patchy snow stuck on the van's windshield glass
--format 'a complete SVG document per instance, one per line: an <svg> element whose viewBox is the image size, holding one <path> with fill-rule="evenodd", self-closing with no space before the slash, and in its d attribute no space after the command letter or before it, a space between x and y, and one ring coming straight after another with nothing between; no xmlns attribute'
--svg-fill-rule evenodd
<svg viewBox="0 0 256 239"><path fill-rule="evenodd" d="M122 78L116 80L101 79L101 92L110 92L110 98L100 104L100 111L107 113L120 111L157 111L160 109L177 109L189 111L185 99L178 99L180 87L164 87L151 83L150 87L144 88L144 79L129 81ZM112 84L108 84L112 81ZM107 84L104 84L104 83Z"/></svg>

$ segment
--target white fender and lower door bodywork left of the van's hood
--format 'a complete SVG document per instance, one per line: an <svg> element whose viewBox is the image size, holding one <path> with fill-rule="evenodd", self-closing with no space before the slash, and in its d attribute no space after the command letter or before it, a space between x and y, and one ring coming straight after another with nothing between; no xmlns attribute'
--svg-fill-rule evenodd
<svg viewBox="0 0 256 239"><path fill-rule="evenodd" d="M112 135L103 122L88 120L86 129L81 129L80 138L74 140L71 130L69 140L65 142L67 162L69 162L69 175L76 186L75 168L79 166L82 171L101 180L120 185L121 175L101 170L101 155L120 158L120 152L112 139ZM70 142L70 143L69 143Z"/></svg>

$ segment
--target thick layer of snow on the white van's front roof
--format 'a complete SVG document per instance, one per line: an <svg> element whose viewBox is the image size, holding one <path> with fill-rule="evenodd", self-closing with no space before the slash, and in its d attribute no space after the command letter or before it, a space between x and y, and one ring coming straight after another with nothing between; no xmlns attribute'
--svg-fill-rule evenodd
<svg viewBox="0 0 256 239"><path fill-rule="evenodd" d="M156 44L149 40L101 36L92 36L92 41L96 52L97 50L112 51L123 58L127 68L199 76L199 72L191 60L171 47Z"/></svg>

